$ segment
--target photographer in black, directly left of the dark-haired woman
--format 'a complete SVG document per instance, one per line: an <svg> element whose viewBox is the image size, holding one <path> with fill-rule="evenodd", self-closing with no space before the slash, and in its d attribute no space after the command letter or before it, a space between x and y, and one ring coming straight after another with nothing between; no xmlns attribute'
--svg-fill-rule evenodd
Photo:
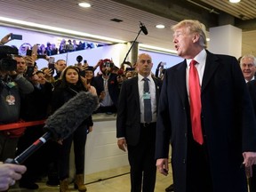
<svg viewBox="0 0 256 192"><path fill-rule="evenodd" d="M29 67L32 63L29 64L27 62L27 65ZM32 76L26 77L28 81L34 85L34 92L30 92L22 97L20 117L28 122L44 120L49 115L50 100L52 98L52 84L45 81L44 73L40 71L34 71ZM36 124L29 126L26 129L18 142L17 155L20 155L31 145L31 143L44 134L43 126L44 124ZM27 172L20 180L20 188L39 188L36 184L36 179L39 179L43 173L46 173L45 170L47 170L47 164L51 161L53 156L53 154L51 154L52 150L49 149L49 143L47 143L47 145L43 148L39 148L35 154L29 156L29 158L24 161L23 164L26 165ZM35 164L35 162L37 162L37 164ZM40 164L40 166L38 166L38 164Z"/></svg>

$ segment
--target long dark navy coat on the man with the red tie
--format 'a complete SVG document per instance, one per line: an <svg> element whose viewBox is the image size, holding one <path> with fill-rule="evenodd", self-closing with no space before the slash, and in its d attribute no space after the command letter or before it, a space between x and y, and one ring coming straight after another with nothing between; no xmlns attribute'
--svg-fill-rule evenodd
<svg viewBox="0 0 256 192"><path fill-rule="evenodd" d="M186 68L184 60L165 72L157 116L156 158L168 157L171 137L175 192L195 191L191 185L197 180L204 185L205 177L214 192L245 192L246 178L240 165L244 151L256 151L256 122L241 68L234 57L207 52L201 88L204 146L199 150L203 156L192 139ZM205 158L207 164L201 166L197 156Z"/></svg>

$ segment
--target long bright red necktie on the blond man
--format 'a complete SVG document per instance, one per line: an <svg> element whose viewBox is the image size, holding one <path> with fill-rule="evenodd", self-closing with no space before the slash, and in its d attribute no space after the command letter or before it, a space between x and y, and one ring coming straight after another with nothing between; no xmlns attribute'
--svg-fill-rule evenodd
<svg viewBox="0 0 256 192"><path fill-rule="evenodd" d="M197 69L195 67L196 63L196 60L191 60L189 68L188 84L190 98L190 116L194 140L202 145L204 143L204 139L201 124L201 90Z"/></svg>

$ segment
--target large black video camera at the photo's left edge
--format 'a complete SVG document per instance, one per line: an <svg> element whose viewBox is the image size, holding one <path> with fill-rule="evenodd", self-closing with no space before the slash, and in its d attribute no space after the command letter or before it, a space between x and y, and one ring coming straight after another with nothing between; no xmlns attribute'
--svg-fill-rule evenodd
<svg viewBox="0 0 256 192"><path fill-rule="evenodd" d="M17 61L13 60L13 55L18 55L18 49L11 46L0 46L0 70L13 71L17 68Z"/></svg>

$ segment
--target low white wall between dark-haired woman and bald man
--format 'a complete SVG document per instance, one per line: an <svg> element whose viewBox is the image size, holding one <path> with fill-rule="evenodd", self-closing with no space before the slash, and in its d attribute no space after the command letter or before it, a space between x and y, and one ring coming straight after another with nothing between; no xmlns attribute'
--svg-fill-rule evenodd
<svg viewBox="0 0 256 192"><path fill-rule="evenodd" d="M116 116L96 114L93 131L87 136L84 172L101 172L128 165L127 153L117 147Z"/></svg>

